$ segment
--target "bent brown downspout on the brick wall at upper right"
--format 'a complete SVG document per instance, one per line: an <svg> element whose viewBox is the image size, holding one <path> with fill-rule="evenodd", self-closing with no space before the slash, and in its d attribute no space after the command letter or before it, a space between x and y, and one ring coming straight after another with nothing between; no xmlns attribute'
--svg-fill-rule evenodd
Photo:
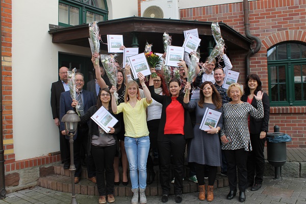
<svg viewBox="0 0 306 204"><path fill-rule="evenodd" d="M245 56L245 72L246 72L246 76L248 76L250 74L250 57L256 53L258 53L258 51L260 50L261 47L261 40L250 34L250 23L249 23L249 19L248 19L248 11L249 11L249 3L248 0L243 0L243 13L244 13L244 28L245 28L245 35L246 37L255 40L257 45L255 47L255 49L252 48L252 45L250 46L250 50L249 52L246 54Z"/></svg>

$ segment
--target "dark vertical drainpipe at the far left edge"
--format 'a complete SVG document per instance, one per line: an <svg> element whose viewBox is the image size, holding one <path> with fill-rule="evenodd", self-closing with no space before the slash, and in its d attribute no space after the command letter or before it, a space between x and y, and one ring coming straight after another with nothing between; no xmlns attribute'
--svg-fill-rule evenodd
<svg viewBox="0 0 306 204"><path fill-rule="evenodd" d="M2 28L1 20L0 20L0 28ZM0 29L0 37L2 38L2 29ZM2 50L2 40L0 40L0 48ZM2 53L0 51L0 67L2 70ZM2 87L2 73L0 78L0 87ZM2 130L2 89L0 89L0 199L6 197L5 190L5 176L4 176L4 149L3 149L3 130Z"/></svg>

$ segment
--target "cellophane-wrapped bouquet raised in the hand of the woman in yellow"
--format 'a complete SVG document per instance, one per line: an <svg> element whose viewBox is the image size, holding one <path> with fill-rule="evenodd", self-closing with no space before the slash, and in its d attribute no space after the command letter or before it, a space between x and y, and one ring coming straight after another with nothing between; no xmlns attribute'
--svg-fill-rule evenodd
<svg viewBox="0 0 306 204"><path fill-rule="evenodd" d="M105 72L110 80L110 83L114 86L117 87L117 73L118 69L116 66L116 60L115 57L118 55L100 55L100 60L104 66ZM116 102L118 103L118 93L114 93Z"/></svg>

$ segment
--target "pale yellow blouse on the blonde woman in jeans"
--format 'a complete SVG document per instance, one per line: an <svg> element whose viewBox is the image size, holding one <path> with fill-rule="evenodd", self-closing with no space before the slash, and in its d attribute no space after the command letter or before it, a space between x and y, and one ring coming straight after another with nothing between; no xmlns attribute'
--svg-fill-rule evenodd
<svg viewBox="0 0 306 204"><path fill-rule="evenodd" d="M115 114L123 112L124 130L126 137L139 138L148 136L149 131L146 124L145 109L152 103L147 103L146 98L141 98L137 101L133 108L129 102L121 103L117 106Z"/></svg>

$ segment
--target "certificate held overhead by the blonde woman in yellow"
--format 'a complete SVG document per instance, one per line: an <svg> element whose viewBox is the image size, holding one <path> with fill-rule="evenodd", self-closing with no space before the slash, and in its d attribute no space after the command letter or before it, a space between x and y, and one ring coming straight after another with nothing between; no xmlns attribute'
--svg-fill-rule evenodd
<svg viewBox="0 0 306 204"><path fill-rule="evenodd" d="M148 62L146 61L144 53L129 57L129 63L135 79L138 79L138 72L141 72L145 76L151 74L151 70Z"/></svg>

